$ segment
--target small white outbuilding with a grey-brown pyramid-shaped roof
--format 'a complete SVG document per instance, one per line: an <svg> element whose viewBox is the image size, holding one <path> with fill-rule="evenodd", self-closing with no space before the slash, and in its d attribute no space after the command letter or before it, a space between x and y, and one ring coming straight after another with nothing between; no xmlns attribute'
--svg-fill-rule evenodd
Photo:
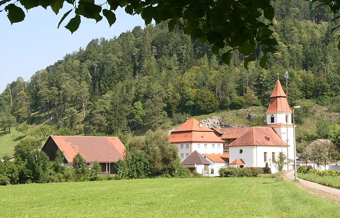
<svg viewBox="0 0 340 218"><path fill-rule="evenodd" d="M209 168L210 162L197 151L193 151L185 160L182 161L182 164L189 168L191 172L197 171L201 174L211 174Z"/></svg>

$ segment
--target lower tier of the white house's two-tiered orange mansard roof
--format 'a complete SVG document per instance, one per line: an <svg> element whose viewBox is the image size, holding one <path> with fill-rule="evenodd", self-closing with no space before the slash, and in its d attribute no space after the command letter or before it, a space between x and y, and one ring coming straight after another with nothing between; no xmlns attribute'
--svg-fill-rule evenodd
<svg viewBox="0 0 340 218"><path fill-rule="evenodd" d="M187 132L172 132L169 135L170 143L177 142L217 142L223 143L218 136L215 135L214 132L195 132L195 131L187 131Z"/></svg>

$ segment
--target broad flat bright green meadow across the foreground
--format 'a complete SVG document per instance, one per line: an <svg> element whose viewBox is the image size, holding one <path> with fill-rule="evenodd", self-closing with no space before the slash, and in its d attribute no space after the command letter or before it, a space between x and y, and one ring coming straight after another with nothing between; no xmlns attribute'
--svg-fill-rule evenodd
<svg viewBox="0 0 340 218"><path fill-rule="evenodd" d="M339 217L270 178L111 180L0 187L0 217Z"/></svg>

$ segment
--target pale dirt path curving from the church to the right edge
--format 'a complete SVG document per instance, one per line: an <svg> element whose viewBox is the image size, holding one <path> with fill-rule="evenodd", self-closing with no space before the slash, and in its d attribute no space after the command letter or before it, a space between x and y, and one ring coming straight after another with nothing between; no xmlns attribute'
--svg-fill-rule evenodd
<svg viewBox="0 0 340 218"><path fill-rule="evenodd" d="M285 180L292 181L294 180L294 171L285 171L282 176ZM337 202L340 205L340 189L326 187L300 178L298 178L298 180L300 182L295 183L296 186L308 191L313 195Z"/></svg>

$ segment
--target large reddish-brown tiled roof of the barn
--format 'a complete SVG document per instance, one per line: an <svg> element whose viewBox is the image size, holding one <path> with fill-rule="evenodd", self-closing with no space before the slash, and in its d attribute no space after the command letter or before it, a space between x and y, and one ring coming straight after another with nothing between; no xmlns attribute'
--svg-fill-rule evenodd
<svg viewBox="0 0 340 218"><path fill-rule="evenodd" d="M124 159L125 146L118 137L51 136L69 163L80 153L87 162L117 162ZM45 145L44 145L45 146ZM111 156L111 158L109 157Z"/></svg>

